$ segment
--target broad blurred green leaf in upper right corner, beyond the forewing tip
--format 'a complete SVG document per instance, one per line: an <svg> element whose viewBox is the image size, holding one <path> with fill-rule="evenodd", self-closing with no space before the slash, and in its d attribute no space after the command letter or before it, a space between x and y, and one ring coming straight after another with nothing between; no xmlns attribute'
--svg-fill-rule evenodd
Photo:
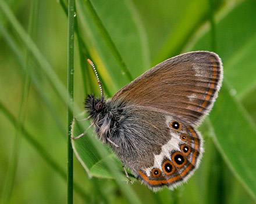
<svg viewBox="0 0 256 204"><path fill-rule="evenodd" d="M223 10L221 19L217 16L218 23L215 26L218 54L223 61L225 78L234 92L242 97L246 96L244 92L249 93L247 90L255 87L256 81L256 69L252 68L256 66L255 9L255 1L241 1L232 10ZM211 50L210 36L211 32L207 29L186 51Z"/></svg>

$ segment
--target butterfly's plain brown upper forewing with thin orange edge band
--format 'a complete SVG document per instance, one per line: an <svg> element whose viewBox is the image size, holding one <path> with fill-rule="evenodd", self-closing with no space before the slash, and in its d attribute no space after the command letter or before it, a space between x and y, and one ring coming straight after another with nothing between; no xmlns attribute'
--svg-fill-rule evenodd
<svg viewBox="0 0 256 204"><path fill-rule="evenodd" d="M222 72L221 59L215 53L180 54L134 79L112 100L157 108L197 124L215 101Z"/></svg>

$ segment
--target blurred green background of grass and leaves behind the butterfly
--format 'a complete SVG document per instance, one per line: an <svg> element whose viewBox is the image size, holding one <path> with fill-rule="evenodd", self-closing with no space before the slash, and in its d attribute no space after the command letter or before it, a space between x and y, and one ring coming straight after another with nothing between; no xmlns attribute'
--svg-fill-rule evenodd
<svg viewBox="0 0 256 204"><path fill-rule="evenodd" d="M256 1L91 4L113 44L98 30L88 1L76 0L74 115L83 111L86 94L99 94L87 57L108 97L155 64L192 50L218 53L224 80L198 128L205 152L187 183L155 193L140 182L105 178L109 170L92 163L89 152L87 171L74 157L74 203L256 203ZM66 203L66 8L61 0L0 0L1 203ZM93 144L86 148L104 148Z"/></svg>

